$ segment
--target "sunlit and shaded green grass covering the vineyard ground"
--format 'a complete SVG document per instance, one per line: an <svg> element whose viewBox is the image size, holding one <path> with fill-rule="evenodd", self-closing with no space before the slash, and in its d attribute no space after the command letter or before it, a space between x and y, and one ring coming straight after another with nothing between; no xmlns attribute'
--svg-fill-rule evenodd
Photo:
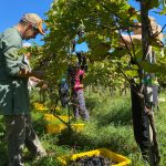
<svg viewBox="0 0 166 166"><path fill-rule="evenodd" d="M165 93L162 93L160 96L166 97ZM126 156L132 160L132 166L144 166L139 148L133 135L129 94L110 97L107 94L98 96L96 93L91 93L86 96L86 106L91 120L85 123L85 127L80 133L64 129L60 134L46 134L43 120L44 112L32 111L33 126L42 145L52 155L40 160L27 160L25 166L59 166L61 165L56 159L59 156L102 147ZM162 156L159 166L165 166L166 102L160 103L159 107L160 111L155 112L155 122ZM0 160L4 164L7 162L7 145L2 142L4 138L2 117L0 117L0 154L3 154L0 155Z"/></svg>

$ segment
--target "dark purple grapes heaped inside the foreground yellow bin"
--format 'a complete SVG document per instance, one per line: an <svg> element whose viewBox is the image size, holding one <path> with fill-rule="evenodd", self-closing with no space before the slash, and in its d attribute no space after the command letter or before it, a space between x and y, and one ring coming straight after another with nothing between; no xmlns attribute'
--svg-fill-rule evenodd
<svg viewBox="0 0 166 166"><path fill-rule="evenodd" d="M98 156L83 156L74 162L72 160L69 166L111 166L113 164L117 164L111 159L107 159L101 155Z"/></svg>

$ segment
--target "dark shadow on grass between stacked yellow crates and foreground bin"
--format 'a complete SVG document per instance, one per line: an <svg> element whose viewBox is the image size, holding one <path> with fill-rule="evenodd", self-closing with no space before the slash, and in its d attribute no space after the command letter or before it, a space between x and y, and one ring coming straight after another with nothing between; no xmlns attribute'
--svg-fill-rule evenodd
<svg viewBox="0 0 166 166"><path fill-rule="evenodd" d="M69 131L69 129L64 129L61 135L59 135L59 142L58 142L58 146L61 145L68 145L70 147L73 148L73 151L75 152L85 152L85 151L92 151L92 149L96 149L96 148L108 148L115 152L121 152L122 151L122 146L120 146L120 142L126 142L126 139L124 139L123 137L112 137L110 139L106 141L102 141L101 139L96 139L96 137L94 136L89 136L85 135L83 133L76 133L74 131ZM126 153L128 153L128 149L126 148Z"/></svg>

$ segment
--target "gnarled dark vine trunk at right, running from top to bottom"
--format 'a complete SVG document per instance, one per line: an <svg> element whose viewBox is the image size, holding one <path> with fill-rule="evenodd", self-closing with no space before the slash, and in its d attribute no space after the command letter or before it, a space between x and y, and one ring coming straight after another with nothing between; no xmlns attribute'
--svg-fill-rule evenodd
<svg viewBox="0 0 166 166"><path fill-rule="evenodd" d="M142 22L142 50L143 50L143 61L149 62L151 59L151 48L149 48L149 38L152 37L152 29L148 19L148 9L149 9L151 1L141 0L141 22ZM151 75L151 73L146 73L143 69L141 69L141 80L142 83L142 91L144 94L144 115L145 122L147 125L147 134L148 134L148 163L151 166L157 166L159 164L159 151L158 151L158 142L156 137L156 128L154 123L154 112L151 102L151 97L153 95L153 87L149 83L145 84L144 81L146 76Z"/></svg>

